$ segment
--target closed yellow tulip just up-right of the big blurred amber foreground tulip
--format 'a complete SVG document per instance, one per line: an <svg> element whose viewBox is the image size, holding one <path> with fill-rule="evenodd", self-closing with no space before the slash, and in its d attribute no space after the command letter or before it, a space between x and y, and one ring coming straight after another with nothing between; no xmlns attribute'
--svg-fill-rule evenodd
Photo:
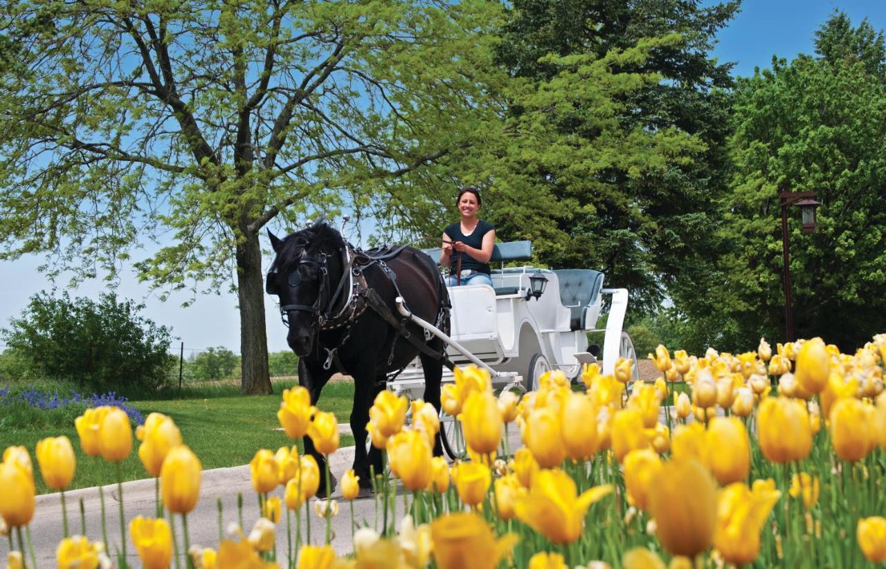
<svg viewBox="0 0 886 569"><path fill-rule="evenodd" d="M750 473L750 441L741 419L715 417L708 423L707 465L720 484L743 481Z"/></svg>

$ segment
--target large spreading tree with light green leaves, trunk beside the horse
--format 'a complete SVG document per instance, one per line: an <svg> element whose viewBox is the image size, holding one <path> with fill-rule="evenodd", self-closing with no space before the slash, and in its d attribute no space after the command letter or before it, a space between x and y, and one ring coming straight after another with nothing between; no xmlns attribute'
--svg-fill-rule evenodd
<svg viewBox="0 0 886 569"><path fill-rule="evenodd" d="M437 183L486 135L499 9L483 0L43 3L0 8L0 258L136 263L237 289L242 384L268 393L260 230Z"/></svg>

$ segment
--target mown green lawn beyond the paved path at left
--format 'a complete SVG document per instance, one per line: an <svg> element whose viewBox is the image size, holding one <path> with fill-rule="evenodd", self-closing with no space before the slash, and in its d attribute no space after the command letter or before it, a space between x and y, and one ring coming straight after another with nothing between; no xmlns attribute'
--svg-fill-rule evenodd
<svg viewBox="0 0 886 569"><path fill-rule="evenodd" d="M292 381L275 382L274 394L269 396L237 395L236 385L199 386L185 389L180 399L159 399L131 402L146 417L149 412L159 411L169 415L181 429L184 443L200 459L204 469L248 464L256 450L276 450L292 442L280 427L276 411L280 408L283 389L291 387ZM336 381L323 389L318 407L332 411L339 423L347 423L354 398L354 383ZM117 481L116 469L101 458L88 457L80 449L79 438L73 421L62 425L5 426L0 429L0 449L16 444L24 445L35 458L37 441L47 436L66 434L74 445L77 455L77 473L71 488L88 488L98 484ZM146 478L147 473L138 459L137 440L133 440L130 456L122 463L123 480ZM354 444L350 435L342 435L341 446ZM300 448L300 443L299 443ZM37 466L35 464L35 471ZM37 493L50 489L35 472Z"/></svg>

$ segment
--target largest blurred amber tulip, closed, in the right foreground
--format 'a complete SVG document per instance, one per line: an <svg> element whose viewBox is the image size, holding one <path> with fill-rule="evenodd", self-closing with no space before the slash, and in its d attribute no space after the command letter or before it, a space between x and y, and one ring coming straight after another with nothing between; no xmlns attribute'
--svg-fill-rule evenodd
<svg viewBox="0 0 886 569"><path fill-rule="evenodd" d="M672 458L649 495L649 513L656 520L658 541L672 555L696 557L713 539L717 485L693 458Z"/></svg>

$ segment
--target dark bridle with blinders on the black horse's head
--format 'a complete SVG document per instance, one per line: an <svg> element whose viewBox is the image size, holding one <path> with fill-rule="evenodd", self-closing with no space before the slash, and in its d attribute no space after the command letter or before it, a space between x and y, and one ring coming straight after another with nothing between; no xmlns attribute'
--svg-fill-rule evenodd
<svg viewBox="0 0 886 569"><path fill-rule="evenodd" d="M338 319L347 309L350 304L351 296L353 296L354 289L354 276L351 273L351 265L354 262L354 255L351 254L349 248L345 247L345 252L343 257L344 263L342 267L341 278L338 280L338 286L336 287L335 293L330 296L330 270L329 270L329 259L330 255L327 253L321 252L317 256L303 256L299 259L298 265L295 265L291 268L290 272L287 274L286 281L289 284L289 288L299 288L301 286L301 274L299 273L300 265L317 265L319 267L319 271L321 274L320 278L320 290L317 291L317 297L314 301L314 304L281 304L280 305L280 319L283 321L285 327L289 327L289 312L290 311L304 311L310 312L314 315L314 319L311 323L311 326L316 327L327 327L327 324L330 321ZM272 268L268 273L268 281L265 285L265 290L269 295L280 296L280 288L276 283L277 278L276 268ZM341 294L342 289L345 286L346 281L351 281L351 295L345 300L344 305L341 310L338 311L336 315L331 315L331 312L338 301L338 296ZM326 304L325 310L323 309L323 296L329 296L329 302Z"/></svg>

